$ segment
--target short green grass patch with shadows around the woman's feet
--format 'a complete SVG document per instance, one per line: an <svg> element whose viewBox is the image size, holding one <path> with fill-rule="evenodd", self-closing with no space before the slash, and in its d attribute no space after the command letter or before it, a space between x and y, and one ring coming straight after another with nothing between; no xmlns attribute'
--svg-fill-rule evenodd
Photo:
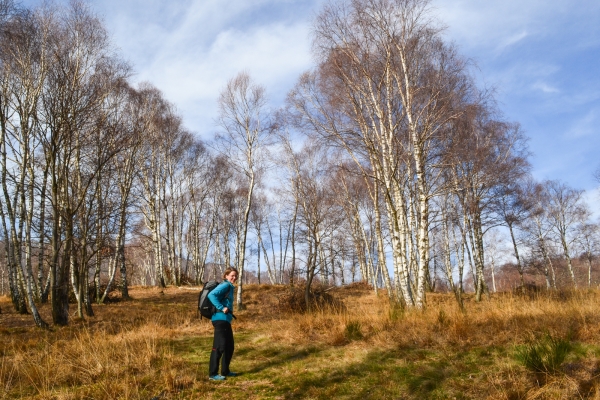
<svg viewBox="0 0 600 400"><path fill-rule="evenodd" d="M203 389L208 398L466 399L473 398L468 392L474 382L507 359L503 348L293 346L257 340L250 333L235 339L232 370L241 375L209 382ZM172 348L206 375L211 343L212 337L189 338Z"/></svg>

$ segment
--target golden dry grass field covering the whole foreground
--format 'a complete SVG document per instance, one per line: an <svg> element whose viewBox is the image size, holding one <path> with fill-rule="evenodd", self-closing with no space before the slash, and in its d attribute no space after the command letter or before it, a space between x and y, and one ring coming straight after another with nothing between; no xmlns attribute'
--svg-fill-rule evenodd
<svg viewBox="0 0 600 400"><path fill-rule="evenodd" d="M364 285L329 291L343 310L291 312L287 288L245 286L232 370L208 380L212 325L198 288L133 287L85 321L36 328L0 297L2 399L600 399L600 292L493 294L461 313L449 294L424 311L390 307ZM48 305L41 307L51 321ZM519 351L569 343L554 370Z"/></svg>

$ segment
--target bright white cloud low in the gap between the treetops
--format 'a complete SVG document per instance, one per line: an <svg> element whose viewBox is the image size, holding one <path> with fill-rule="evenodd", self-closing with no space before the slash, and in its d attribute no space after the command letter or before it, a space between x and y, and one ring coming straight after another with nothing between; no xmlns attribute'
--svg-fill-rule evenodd
<svg viewBox="0 0 600 400"><path fill-rule="evenodd" d="M193 130L206 135L213 129L220 91L240 71L248 71L274 97L281 96L274 88L290 90L309 67L306 26L274 24L250 31L222 31L210 47L197 48L181 58L161 57L144 78L179 105Z"/></svg>

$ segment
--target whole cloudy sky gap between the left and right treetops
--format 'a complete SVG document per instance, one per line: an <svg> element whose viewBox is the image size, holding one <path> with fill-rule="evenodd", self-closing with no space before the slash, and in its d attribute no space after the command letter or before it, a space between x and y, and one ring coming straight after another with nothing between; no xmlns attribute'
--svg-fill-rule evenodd
<svg viewBox="0 0 600 400"><path fill-rule="evenodd" d="M322 0L99 1L108 29L134 64L203 136L214 129L228 79L248 71L281 101L310 67L311 6ZM302 12L287 15L287 10ZM279 13L280 18L271 18ZM108 18L110 16L110 18Z"/></svg>

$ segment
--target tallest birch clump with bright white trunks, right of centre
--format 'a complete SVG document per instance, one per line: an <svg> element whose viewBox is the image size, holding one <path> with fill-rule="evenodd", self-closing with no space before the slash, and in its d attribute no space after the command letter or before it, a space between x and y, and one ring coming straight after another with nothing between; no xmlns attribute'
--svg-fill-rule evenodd
<svg viewBox="0 0 600 400"><path fill-rule="evenodd" d="M439 188L439 135L461 113L465 64L418 0L330 2L319 14L319 68L291 104L306 125L366 159L381 190L404 303L424 307L429 203ZM378 206L378 205L377 205Z"/></svg>

